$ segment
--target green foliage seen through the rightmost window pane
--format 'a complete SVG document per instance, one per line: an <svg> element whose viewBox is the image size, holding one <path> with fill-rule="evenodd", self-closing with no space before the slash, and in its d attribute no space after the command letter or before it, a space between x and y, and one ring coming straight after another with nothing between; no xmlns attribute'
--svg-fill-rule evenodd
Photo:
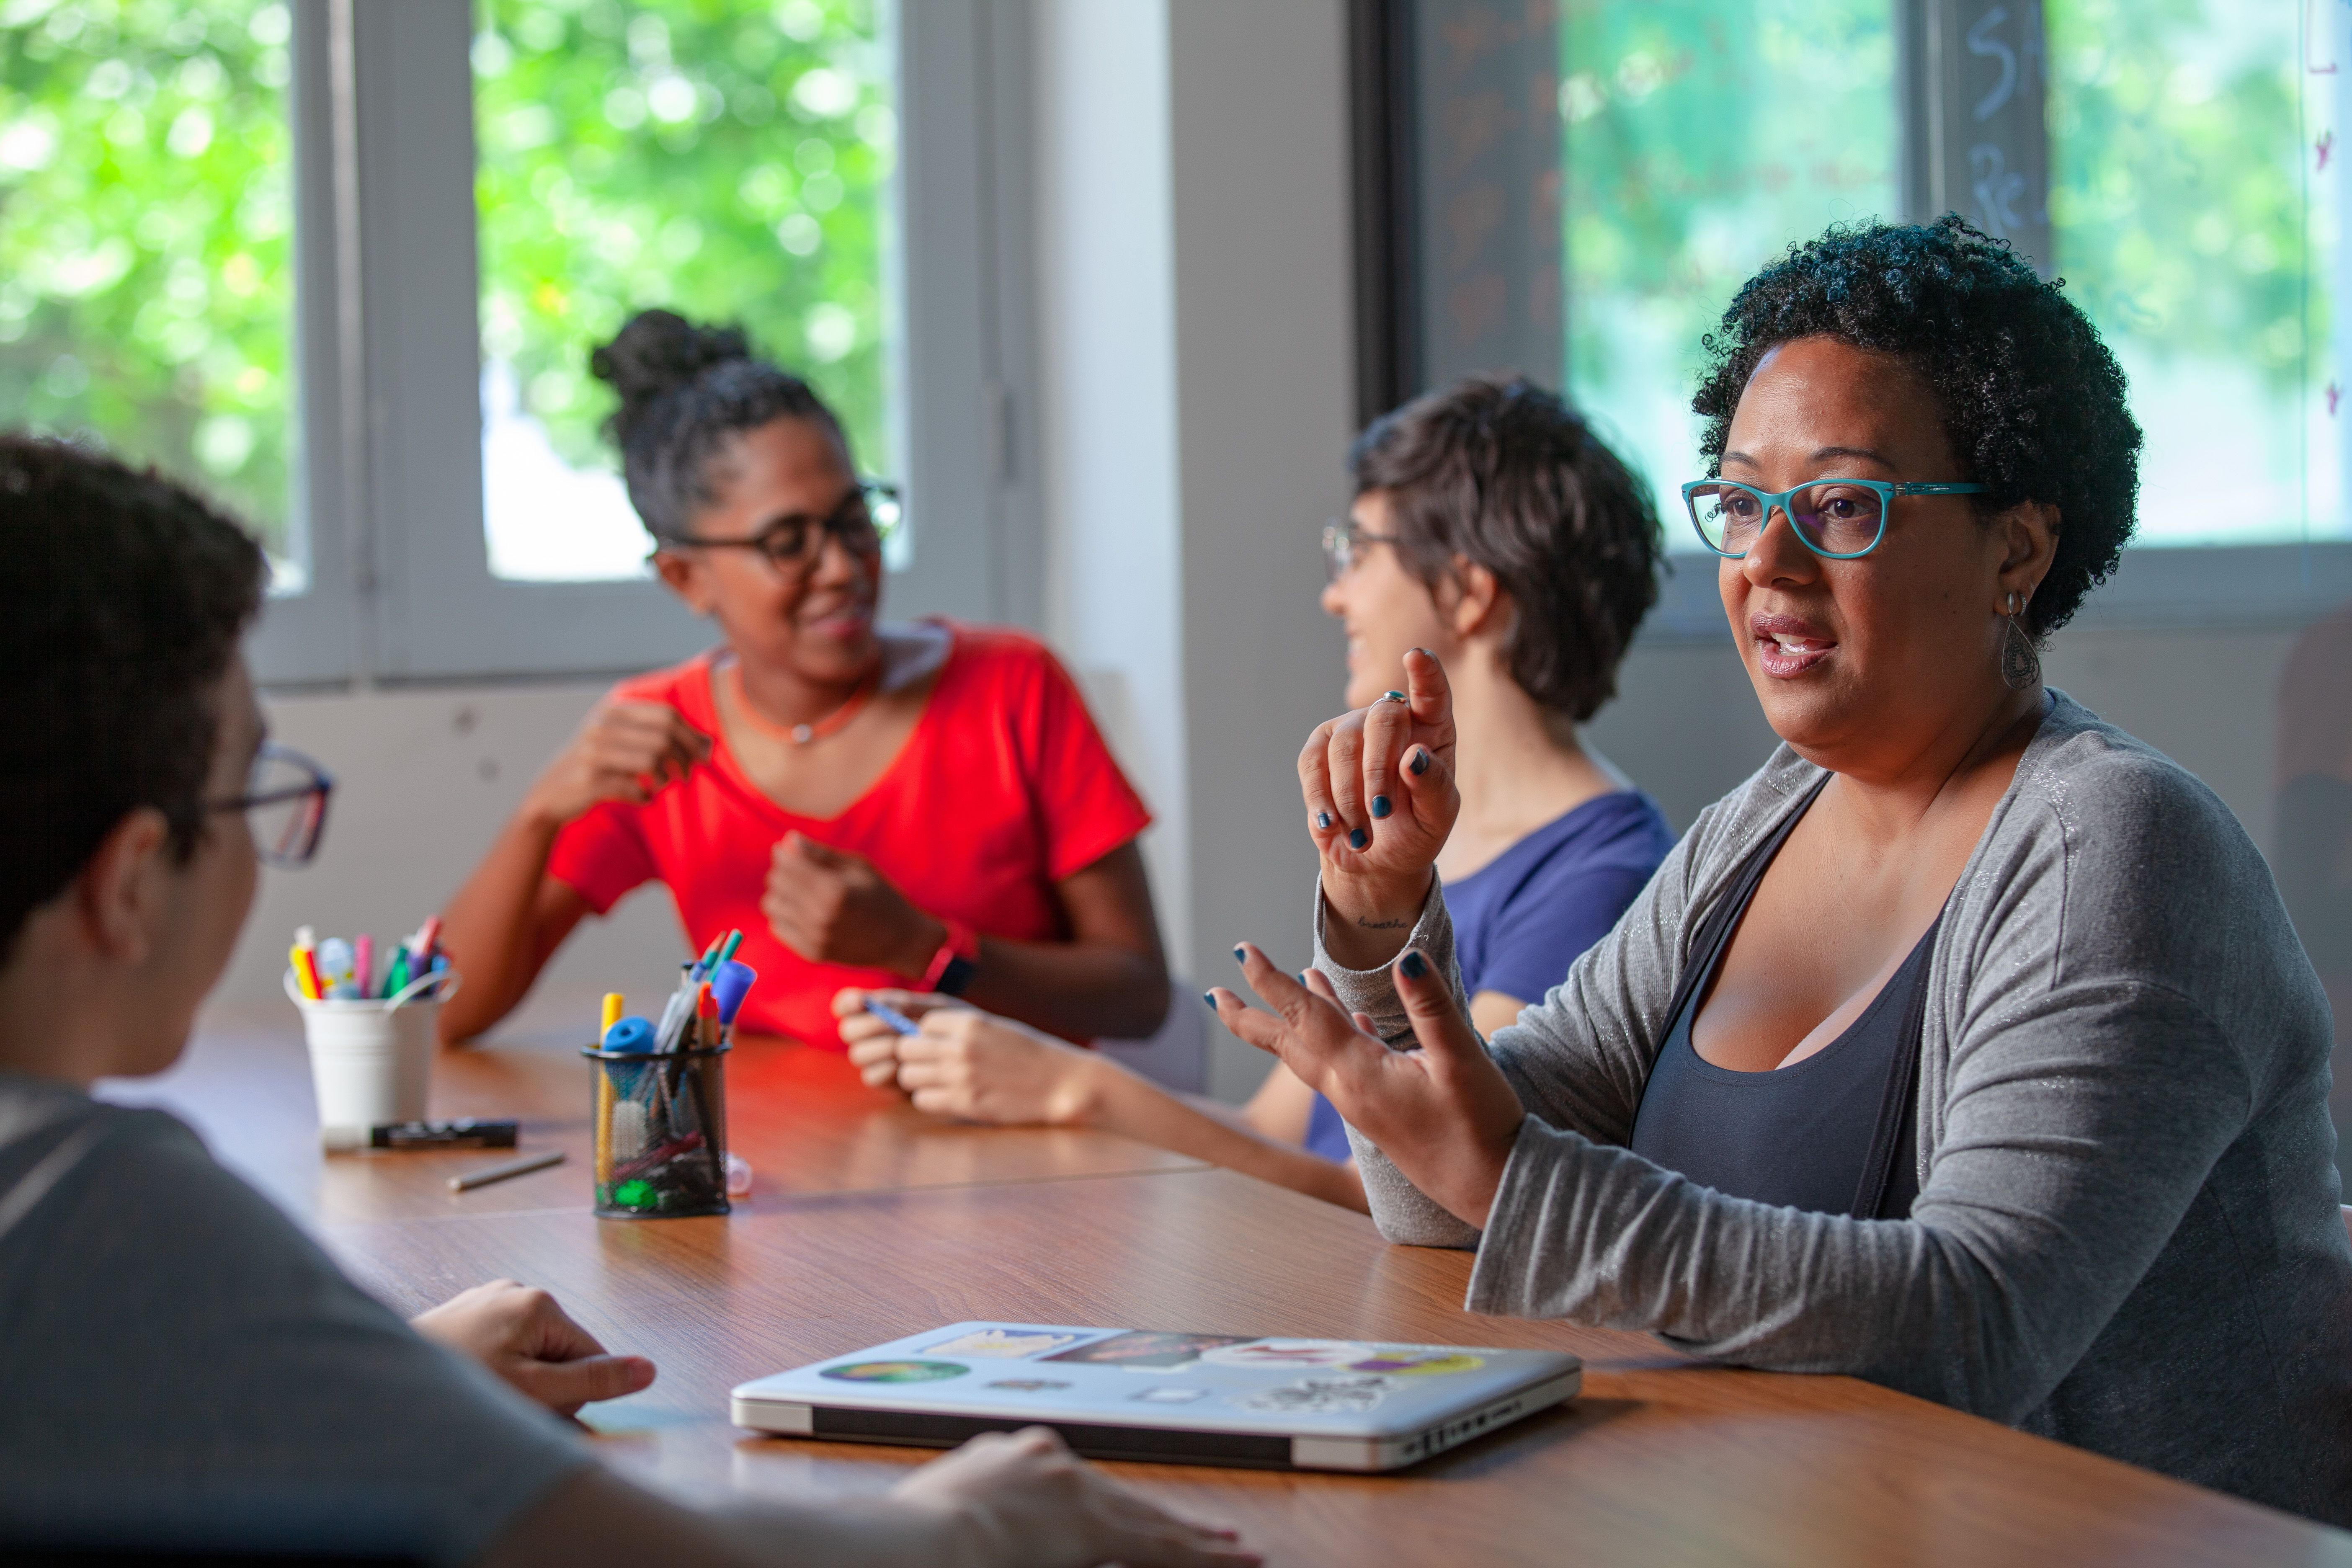
<svg viewBox="0 0 2352 1568"><path fill-rule="evenodd" d="M2293 7L2053 0L2046 26L2051 226L2084 310L2159 360L2220 357L2303 386L2326 322L2305 244Z"/></svg>

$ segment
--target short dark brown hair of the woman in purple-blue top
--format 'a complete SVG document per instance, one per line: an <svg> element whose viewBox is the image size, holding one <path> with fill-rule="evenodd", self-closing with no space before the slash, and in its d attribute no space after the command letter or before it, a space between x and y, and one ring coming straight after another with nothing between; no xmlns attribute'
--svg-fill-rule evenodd
<svg viewBox="0 0 2352 1568"><path fill-rule="evenodd" d="M1578 724L1658 602L1649 484L1566 402L1524 378L1468 376L1376 418L1348 454L1357 494L1388 494L1399 557L1430 588L1465 557L1517 607L1510 677Z"/></svg>

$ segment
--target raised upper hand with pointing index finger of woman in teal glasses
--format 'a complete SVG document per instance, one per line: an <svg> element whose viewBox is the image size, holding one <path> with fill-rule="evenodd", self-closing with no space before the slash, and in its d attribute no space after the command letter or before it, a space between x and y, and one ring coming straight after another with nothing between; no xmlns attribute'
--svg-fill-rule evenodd
<svg viewBox="0 0 2352 1568"><path fill-rule="evenodd" d="M1421 914L1461 811L1454 691L1437 656L1414 649L1404 691L1317 724L1298 752L1298 792L1334 914L1327 950L1350 969L1388 961Z"/></svg>

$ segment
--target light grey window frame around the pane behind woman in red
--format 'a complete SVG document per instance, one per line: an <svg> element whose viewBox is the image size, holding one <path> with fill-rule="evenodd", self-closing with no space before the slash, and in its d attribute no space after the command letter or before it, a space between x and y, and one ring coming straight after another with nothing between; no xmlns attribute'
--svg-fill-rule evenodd
<svg viewBox="0 0 2352 1568"><path fill-rule="evenodd" d="M270 686L600 677L713 642L654 581L520 583L482 531L473 2L294 0L299 595ZM901 122L884 313L910 550L894 616L1040 618L1028 461L1025 12L887 5ZM663 303L663 301L644 301Z"/></svg>

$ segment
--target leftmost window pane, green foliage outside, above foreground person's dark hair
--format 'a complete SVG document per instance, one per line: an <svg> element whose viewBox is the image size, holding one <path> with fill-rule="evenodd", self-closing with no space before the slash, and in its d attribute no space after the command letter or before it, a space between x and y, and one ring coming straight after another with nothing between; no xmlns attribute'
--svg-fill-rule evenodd
<svg viewBox="0 0 2352 1568"><path fill-rule="evenodd" d="M285 5L0 9L0 425L198 482L301 581Z"/></svg>

